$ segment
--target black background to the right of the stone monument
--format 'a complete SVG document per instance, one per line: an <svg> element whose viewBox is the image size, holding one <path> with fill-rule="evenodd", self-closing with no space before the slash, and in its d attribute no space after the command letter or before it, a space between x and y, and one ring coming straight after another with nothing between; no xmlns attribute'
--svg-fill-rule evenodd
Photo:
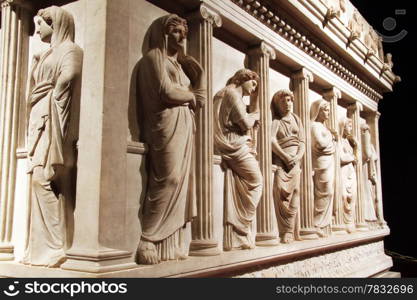
<svg viewBox="0 0 417 300"><path fill-rule="evenodd" d="M384 52L392 53L393 71L402 81L379 102L379 133L384 215L391 229L391 235L385 239L385 248L417 258L416 10L411 7L413 1L406 0L351 2L381 34L395 36L403 29L408 32L398 42L383 43ZM396 9L406 9L406 15L396 15ZM383 26L387 17L396 20L396 27L391 31Z"/></svg>

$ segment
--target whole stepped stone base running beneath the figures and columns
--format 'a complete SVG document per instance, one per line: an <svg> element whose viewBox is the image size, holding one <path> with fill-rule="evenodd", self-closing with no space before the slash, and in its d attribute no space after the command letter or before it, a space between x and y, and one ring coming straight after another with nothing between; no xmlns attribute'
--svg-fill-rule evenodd
<svg viewBox="0 0 417 300"><path fill-rule="evenodd" d="M188 257L154 266L134 265L103 272L31 267L0 262L4 277L370 277L389 270L384 253L388 229L296 241L250 250L222 252L217 256Z"/></svg>

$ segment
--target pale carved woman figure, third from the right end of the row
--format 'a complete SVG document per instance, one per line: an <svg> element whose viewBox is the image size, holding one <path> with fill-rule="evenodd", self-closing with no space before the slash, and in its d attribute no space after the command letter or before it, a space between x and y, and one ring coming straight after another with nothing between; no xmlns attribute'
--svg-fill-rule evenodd
<svg viewBox="0 0 417 300"><path fill-rule="evenodd" d="M326 121L330 116L329 103L320 99L311 105L311 151L314 170L314 226L321 237L330 234L332 223L335 140L337 133L330 131Z"/></svg>

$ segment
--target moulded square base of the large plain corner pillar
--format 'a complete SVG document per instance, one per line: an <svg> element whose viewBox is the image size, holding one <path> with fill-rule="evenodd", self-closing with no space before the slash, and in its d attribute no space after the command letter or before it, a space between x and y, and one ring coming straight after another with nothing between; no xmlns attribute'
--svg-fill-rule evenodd
<svg viewBox="0 0 417 300"><path fill-rule="evenodd" d="M131 252L118 249L70 249L67 251L67 258L67 261L61 265L61 269L105 273L137 267L137 264L133 262Z"/></svg>

